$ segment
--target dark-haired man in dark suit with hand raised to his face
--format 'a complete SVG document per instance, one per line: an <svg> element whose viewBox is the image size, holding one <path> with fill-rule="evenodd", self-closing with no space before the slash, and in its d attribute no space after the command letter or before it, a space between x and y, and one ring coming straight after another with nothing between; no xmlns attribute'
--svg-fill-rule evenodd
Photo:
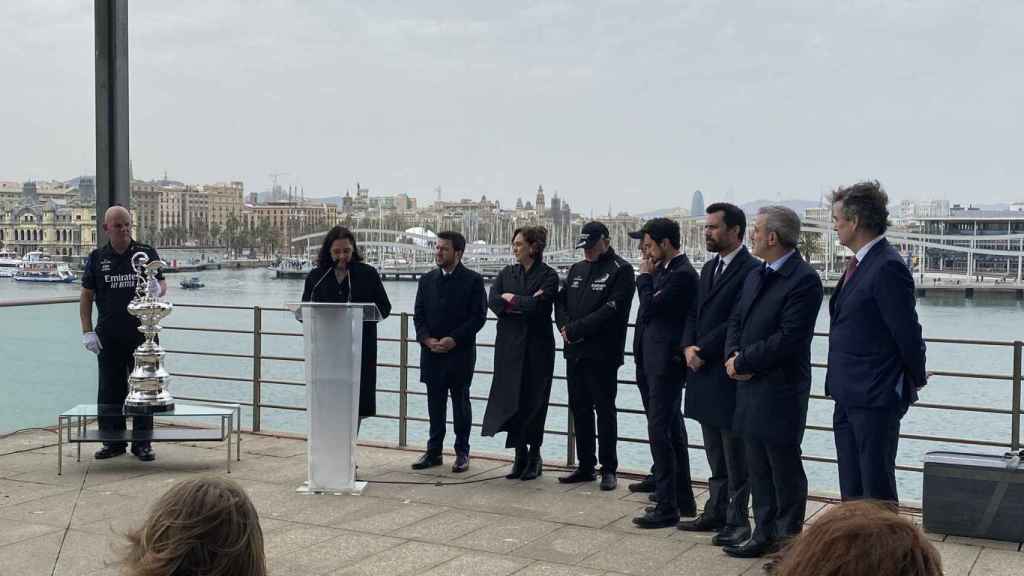
<svg viewBox="0 0 1024 576"><path fill-rule="evenodd" d="M637 277L637 380L647 386L647 435L654 457L654 499L657 505L633 519L640 528L675 526L680 513L696 513L690 486L686 428L680 412L686 370L679 346L690 305L697 297L697 273L679 251L679 222L648 220L643 236L644 258Z"/></svg>

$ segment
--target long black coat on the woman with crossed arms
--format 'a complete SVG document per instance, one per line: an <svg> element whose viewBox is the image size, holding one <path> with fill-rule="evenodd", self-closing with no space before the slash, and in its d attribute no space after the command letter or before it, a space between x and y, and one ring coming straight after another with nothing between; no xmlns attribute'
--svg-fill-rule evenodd
<svg viewBox="0 0 1024 576"><path fill-rule="evenodd" d="M515 298L506 302L504 293ZM529 271L518 263L505 266L490 285L487 306L498 317L498 335L483 436L508 430L511 439L522 431L511 429L513 422L528 426L546 414L555 369L551 311L557 294L558 273L543 261Z"/></svg>

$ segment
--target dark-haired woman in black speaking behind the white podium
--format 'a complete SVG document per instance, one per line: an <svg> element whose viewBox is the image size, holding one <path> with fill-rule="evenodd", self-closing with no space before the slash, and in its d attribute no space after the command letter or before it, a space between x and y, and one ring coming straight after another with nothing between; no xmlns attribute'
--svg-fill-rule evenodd
<svg viewBox="0 0 1024 576"><path fill-rule="evenodd" d="M316 268L306 276L303 302L369 302L381 319L391 314L384 284L374 266L364 263L355 235L334 227L324 239ZM377 414L377 323L362 323L362 365L359 369L359 418Z"/></svg>

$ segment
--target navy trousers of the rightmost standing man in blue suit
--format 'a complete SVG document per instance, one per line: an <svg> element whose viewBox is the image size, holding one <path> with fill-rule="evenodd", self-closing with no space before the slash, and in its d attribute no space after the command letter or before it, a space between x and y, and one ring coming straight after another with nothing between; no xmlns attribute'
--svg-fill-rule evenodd
<svg viewBox="0 0 1024 576"><path fill-rule="evenodd" d="M897 406L851 408L836 403L833 428L839 457L839 489L844 500L899 500L896 451L900 416Z"/></svg>

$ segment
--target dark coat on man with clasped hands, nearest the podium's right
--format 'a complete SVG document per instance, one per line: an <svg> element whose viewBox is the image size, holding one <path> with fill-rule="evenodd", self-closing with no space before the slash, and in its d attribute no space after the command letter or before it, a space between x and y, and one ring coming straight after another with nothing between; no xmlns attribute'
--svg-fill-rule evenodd
<svg viewBox="0 0 1024 576"><path fill-rule="evenodd" d="M445 278L441 269L420 277L413 322L420 342L420 381L454 379L468 385L476 365L476 333L487 320L483 277L459 263ZM423 341L452 336L451 352L434 354Z"/></svg>

